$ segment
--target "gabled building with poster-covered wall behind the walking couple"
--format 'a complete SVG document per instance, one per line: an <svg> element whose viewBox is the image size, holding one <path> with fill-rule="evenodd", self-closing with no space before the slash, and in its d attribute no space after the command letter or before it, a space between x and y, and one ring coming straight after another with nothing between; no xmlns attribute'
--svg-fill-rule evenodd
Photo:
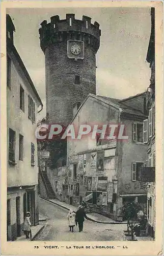
<svg viewBox="0 0 164 256"><path fill-rule="evenodd" d="M147 93L133 101L145 105ZM131 98L126 99L127 104ZM147 145L143 138L145 108L135 110L121 100L90 94L78 109L71 124L124 124L126 140L101 140L96 134L67 141L67 168L49 174L56 197L77 206L83 200L94 211L121 220L121 207L126 201L138 202L147 211L147 189L139 181L140 167L146 161ZM136 128L137 127L137 128ZM63 174L63 175L62 175ZM65 175L65 179L63 176ZM62 178L61 178L62 177Z"/></svg>

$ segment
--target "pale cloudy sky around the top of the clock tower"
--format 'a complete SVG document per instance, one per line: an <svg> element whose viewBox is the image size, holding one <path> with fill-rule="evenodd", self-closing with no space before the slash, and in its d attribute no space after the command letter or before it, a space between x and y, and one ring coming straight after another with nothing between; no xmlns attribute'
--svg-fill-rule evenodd
<svg viewBox="0 0 164 256"><path fill-rule="evenodd" d="M98 22L101 29L100 47L96 54L96 93L113 98L127 98L147 90L151 70L146 55L151 32L150 7L125 8L11 8L7 9L14 26L14 45L28 70L46 113L45 63L40 48L39 28L44 19L66 13L83 15Z"/></svg>

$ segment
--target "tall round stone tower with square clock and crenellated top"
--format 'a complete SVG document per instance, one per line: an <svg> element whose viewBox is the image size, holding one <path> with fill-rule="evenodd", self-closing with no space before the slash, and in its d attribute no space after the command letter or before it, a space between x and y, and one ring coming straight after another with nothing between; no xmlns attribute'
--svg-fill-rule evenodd
<svg viewBox="0 0 164 256"><path fill-rule="evenodd" d="M101 30L97 22L83 16L66 19L52 16L39 29L40 46L45 54L46 112L49 122L68 124L73 105L82 103L89 93L96 94L96 52Z"/></svg>

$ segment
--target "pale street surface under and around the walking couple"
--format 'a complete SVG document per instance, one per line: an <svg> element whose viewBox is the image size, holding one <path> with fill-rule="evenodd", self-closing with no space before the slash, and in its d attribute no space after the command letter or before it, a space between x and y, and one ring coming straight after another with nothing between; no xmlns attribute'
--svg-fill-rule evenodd
<svg viewBox="0 0 164 256"><path fill-rule="evenodd" d="M36 241L121 241L124 224L101 224L85 220L84 230L69 232L68 211L39 198L39 212L47 218L44 229L34 239Z"/></svg>

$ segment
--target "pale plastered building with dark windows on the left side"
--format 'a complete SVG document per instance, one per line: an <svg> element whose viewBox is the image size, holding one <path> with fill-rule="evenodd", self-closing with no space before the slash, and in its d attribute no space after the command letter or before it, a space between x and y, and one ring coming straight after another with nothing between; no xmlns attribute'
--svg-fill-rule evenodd
<svg viewBox="0 0 164 256"><path fill-rule="evenodd" d="M7 240L22 234L26 211L38 218L37 113L41 99L13 41L15 27L7 14ZM42 108L41 108L42 109Z"/></svg>

